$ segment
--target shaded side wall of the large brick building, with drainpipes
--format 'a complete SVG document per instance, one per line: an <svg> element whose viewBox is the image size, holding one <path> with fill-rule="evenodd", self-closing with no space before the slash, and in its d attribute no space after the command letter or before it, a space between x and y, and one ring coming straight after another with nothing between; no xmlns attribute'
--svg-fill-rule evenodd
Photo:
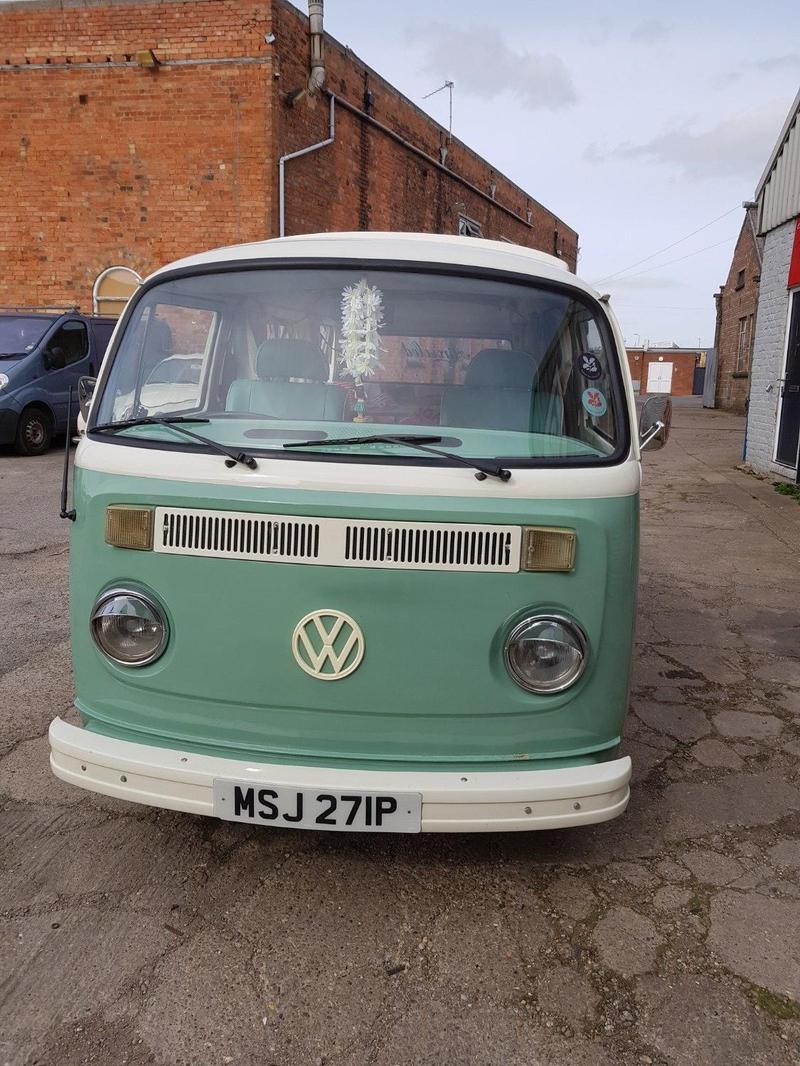
<svg viewBox="0 0 800 1066"><path fill-rule="evenodd" d="M307 23L295 7L274 0L273 30L279 63L275 129L278 154L327 135L327 100L286 102L307 80ZM443 173L358 116L338 108L336 140L319 152L287 163L286 231L335 229L458 232L459 213L481 223L483 236L559 253L575 269L577 233L527 196L409 99L330 37L325 42L326 88L439 160L486 196ZM371 94L368 102L367 94ZM492 203L491 184L496 184ZM508 210L503 210L508 209ZM531 224L527 224L527 212Z"/></svg>

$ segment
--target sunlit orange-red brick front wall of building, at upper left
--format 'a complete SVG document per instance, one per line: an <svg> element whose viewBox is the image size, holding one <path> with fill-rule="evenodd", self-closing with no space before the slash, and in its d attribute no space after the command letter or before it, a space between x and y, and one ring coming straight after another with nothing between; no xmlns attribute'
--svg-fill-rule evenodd
<svg viewBox="0 0 800 1066"><path fill-rule="evenodd" d="M0 304L87 308L106 266L145 275L271 232L272 70L262 2L5 6ZM267 62L154 72L128 62L142 48L165 64Z"/></svg>

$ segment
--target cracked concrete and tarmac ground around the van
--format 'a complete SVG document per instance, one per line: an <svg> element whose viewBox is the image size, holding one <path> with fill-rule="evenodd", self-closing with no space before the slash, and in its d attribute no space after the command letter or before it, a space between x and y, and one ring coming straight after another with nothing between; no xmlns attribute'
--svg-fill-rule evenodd
<svg viewBox="0 0 800 1066"><path fill-rule="evenodd" d="M49 774L60 456L0 456L0 1064L800 1062L800 507L678 407L647 455L630 808L257 831Z"/></svg>

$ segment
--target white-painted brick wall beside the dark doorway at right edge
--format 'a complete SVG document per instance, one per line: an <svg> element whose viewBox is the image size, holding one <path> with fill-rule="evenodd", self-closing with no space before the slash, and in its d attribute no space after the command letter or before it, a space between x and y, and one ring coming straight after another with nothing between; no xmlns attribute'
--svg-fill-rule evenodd
<svg viewBox="0 0 800 1066"><path fill-rule="evenodd" d="M755 322L750 407L748 409L747 462L756 470L772 472L778 417L778 379L783 370L789 298L786 281L789 274L795 220L767 233ZM772 391L767 388L772 385Z"/></svg>

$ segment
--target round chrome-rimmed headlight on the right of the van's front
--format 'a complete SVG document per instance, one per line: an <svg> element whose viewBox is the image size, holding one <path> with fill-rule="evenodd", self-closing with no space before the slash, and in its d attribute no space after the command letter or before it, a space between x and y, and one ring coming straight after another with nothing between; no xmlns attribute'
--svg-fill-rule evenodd
<svg viewBox="0 0 800 1066"><path fill-rule="evenodd" d="M563 692L587 664L583 631L558 615L539 615L514 626L506 642L509 674L528 692Z"/></svg>

